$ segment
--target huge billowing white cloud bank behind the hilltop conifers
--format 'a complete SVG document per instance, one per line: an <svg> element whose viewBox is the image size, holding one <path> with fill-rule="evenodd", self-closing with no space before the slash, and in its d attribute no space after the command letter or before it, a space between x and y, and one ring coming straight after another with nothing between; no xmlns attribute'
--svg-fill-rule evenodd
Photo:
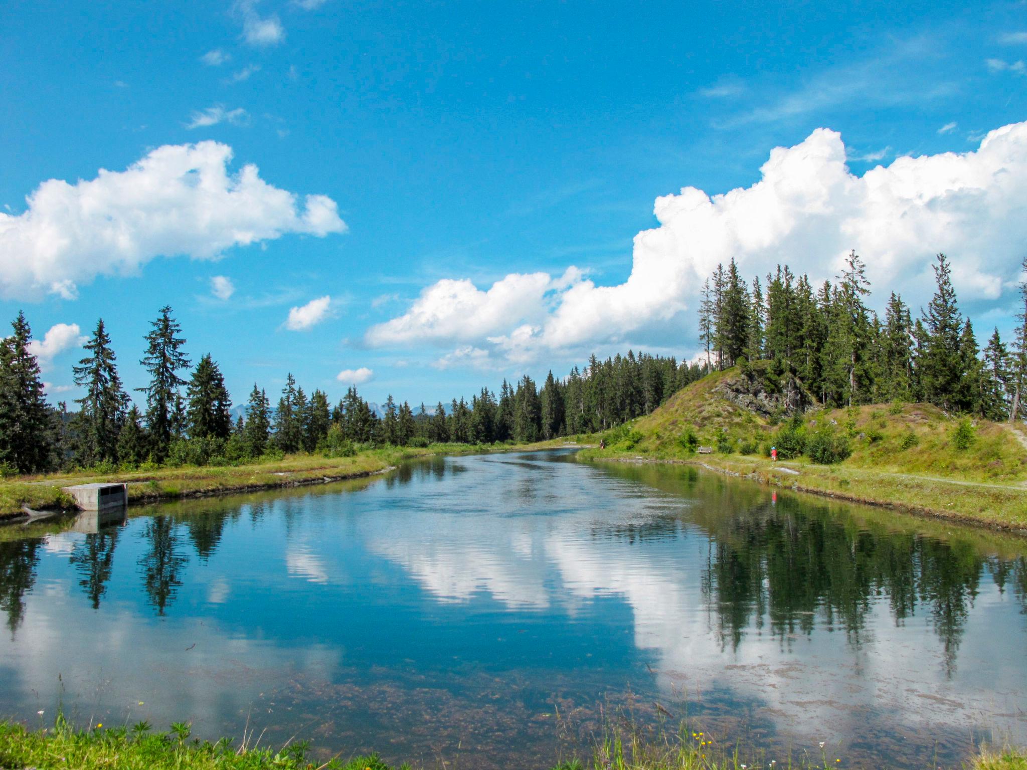
<svg viewBox="0 0 1027 770"><path fill-rule="evenodd" d="M854 248L882 301L896 290L914 307L929 297L938 252L952 258L964 300L997 298L1017 273L1027 241L1027 123L989 132L973 152L903 156L862 177L845 165L840 134L819 128L772 150L760 170L748 188L657 198L659 226L635 236L623 283L596 285L573 270L559 280L515 273L487 291L441 280L372 328L368 342L469 345L510 361L616 342L694 308L702 281L732 257L747 276L787 262L823 280ZM691 325L691 316L675 322Z"/></svg>

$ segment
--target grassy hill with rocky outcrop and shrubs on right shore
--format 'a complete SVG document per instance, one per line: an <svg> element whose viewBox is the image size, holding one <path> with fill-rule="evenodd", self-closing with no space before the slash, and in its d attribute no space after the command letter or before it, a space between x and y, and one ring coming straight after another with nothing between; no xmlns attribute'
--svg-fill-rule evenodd
<svg viewBox="0 0 1027 770"><path fill-rule="evenodd" d="M1027 437L1018 429L925 403L823 410L810 399L792 419L786 401L808 394L789 388L801 384L765 369L711 374L651 415L607 431L607 449L583 457L701 463L851 500L1027 527ZM817 454L815 441L832 451ZM782 462L770 462L771 446ZM713 453L698 454L699 447Z"/></svg>

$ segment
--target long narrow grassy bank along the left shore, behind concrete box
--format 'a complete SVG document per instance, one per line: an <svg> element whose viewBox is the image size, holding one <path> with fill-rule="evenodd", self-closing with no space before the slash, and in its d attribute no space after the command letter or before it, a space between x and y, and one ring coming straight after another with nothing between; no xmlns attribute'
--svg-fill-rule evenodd
<svg viewBox="0 0 1027 770"><path fill-rule="evenodd" d="M532 449L551 449L563 440L532 445L434 444L426 448L385 447L359 452L353 457L287 455L281 460L244 465L161 467L112 473L55 473L17 476L0 482L0 519L33 510L68 508L72 503L62 487L94 482L125 482L129 504L162 499L199 497L306 484L324 484L380 473L396 463L428 455L482 454Z"/></svg>

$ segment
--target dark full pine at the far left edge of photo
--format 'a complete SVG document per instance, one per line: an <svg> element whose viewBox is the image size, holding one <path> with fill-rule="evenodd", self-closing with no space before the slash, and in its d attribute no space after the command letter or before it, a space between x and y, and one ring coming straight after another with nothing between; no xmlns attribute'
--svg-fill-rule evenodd
<svg viewBox="0 0 1027 770"><path fill-rule="evenodd" d="M39 362L29 351L32 330L24 313L11 328L14 334L0 340L0 463L34 473L51 462L49 407Z"/></svg>

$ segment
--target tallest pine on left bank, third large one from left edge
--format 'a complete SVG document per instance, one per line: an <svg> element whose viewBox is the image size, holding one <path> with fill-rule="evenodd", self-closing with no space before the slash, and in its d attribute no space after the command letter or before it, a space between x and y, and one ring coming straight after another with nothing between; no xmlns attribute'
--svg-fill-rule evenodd
<svg viewBox="0 0 1027 770"><path fill-rule="evenodd" d="M178 336L182 326L172 317L169 306L160 309L160 315L151 326L145 338L146 355L140 361L150 373L150 384L139 390L146 393L146 424L153 453L158 460L162 460L176 433L176 406L177 401L181 401L179 388L186 384L178 372L189 367L189 359L182 352L186 341ZM184 410L181 412L184 413Z"/></svg>

